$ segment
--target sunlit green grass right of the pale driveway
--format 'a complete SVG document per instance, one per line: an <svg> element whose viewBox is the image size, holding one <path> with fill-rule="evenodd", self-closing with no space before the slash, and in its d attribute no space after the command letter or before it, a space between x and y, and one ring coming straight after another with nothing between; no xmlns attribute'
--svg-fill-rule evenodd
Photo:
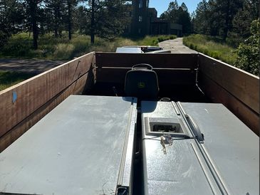
<svg viewBox="0 0 260 195"><path fill-rule="evenodd" d="M234 65L237 58L233 52L235 48L228 46L226 43L222 43L219 38L197 34L184 37L183 43L189 48L231 65Z"/></svg>

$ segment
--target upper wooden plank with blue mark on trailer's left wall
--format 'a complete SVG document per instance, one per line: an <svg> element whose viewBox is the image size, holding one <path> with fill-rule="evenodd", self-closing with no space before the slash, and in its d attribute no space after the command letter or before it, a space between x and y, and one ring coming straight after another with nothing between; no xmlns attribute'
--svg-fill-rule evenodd
<svg viewBox="0 0 260 195"><path fill-rule="evenodd" d="M88 53L1 91L0 137L84 75L94 57ZM13 93L17 95L15 102Z"/></svg>

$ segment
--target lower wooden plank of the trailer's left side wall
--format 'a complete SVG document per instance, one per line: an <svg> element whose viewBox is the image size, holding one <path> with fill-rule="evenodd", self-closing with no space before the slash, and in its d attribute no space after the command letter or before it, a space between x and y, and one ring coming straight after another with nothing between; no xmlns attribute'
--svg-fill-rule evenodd
<svg viewBox="0 0 260 195"><path fill-rule="evenodd" d="M6 147L9 147L11 143L13 143L16 139L18 139L21 135L24 134L29 128L31 128L36 122L41 120L42 117L51 112L53 108L55 108L59 103L66 99L71 94L78 94L83 91L85 88L86 80L88 80L89 75L86 73L81 76L78 80L73 82L68 88L58 93L58 95L54 96L51 100L46 102L43 106L39 107L35 112L31 115L28 115L24 120L19 122L16 126L14 126L9 132L6 132L3 136L0 137L0 152L2 152ZM90 87L90 86L88 86Z"/></svg>

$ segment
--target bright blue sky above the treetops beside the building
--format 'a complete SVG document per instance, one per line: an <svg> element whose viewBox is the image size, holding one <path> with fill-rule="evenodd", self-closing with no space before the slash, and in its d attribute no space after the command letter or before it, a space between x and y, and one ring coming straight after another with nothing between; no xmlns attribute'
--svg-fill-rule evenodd
<svg viewBox="0 0 260 195"><path fill-rule="evenodd" d="M172 0L172 1L175 1L175 0ZM196 10L197 4L199 4L200 1L202 1L202 0L186 0L186 1L177 0L179 6L182 4L182 2L184 4L186 4L190 14L192 14L192 12ZM154 7L158 12L158 17L159 17L162 14L162 12L167 10L170 2L171 2L171 0L150 0L149 7Z"/></svg>

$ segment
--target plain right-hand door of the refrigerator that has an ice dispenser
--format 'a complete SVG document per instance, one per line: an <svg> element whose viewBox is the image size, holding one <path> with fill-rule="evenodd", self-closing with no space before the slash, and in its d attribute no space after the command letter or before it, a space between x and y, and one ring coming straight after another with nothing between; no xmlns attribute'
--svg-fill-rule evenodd
<svg viewBox="0 0 260 195"><path fill-rule="evenodd" d="M180 102L204 133L205 154L232 194L259 194L259 137L224 105Z"/></svg>

